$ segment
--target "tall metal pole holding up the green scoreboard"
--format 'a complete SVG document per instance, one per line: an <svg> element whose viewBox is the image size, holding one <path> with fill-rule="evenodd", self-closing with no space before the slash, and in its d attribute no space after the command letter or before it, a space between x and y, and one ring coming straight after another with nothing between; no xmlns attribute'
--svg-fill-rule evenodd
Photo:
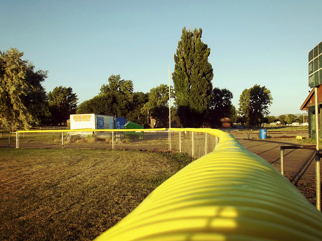
<svg viewBox="0 0 322 241"><path fill-rule="evenodd" d="M314 87L316 153L320 151L317 87ZM320 159L315 155L316 208L321 210Z"/></svg>

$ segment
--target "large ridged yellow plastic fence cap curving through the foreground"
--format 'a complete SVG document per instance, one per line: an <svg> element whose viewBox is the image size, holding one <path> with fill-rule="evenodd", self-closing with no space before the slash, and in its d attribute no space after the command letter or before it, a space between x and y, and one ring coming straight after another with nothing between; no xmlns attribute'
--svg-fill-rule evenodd
<svg viewBox="0 0 322 241"><path fill-rule="evenodd" d="M96 241L322 240L321 212L268 162L228 133L185 130L219 143Z"/></svg>

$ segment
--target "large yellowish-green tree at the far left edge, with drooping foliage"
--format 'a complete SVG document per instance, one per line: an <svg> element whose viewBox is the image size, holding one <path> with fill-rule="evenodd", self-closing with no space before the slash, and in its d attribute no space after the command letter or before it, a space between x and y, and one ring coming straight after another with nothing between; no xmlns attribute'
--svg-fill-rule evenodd
<svg viewBox="0 0 322 241"><path fill-rule="evenodd" d="M22 60L23 53L11 48L0 51L0 126L29 129L39 122L46 99L41 83L47 71Z"/></svg>

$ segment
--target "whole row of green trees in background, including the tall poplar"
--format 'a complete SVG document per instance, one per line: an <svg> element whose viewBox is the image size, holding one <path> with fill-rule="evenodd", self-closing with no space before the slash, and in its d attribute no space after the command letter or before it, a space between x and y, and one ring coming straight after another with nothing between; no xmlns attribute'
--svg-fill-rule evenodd
<svg viewBox="0 0 322 241"><path fill-rule="evenodd" d="M201 41L202 29L183 28L174 55L172 73L175 100L171 117L180 127L221 126L222 118L231 123L258 126L269 114L272 96L265 86L255 84L245 89L239 98L239 108L232 105L232 93L213 87L213 68L208 61L210 48ZM126 117L141 125L149 118L157 126L169 122L169 86L160 84L148 93L134 92L133 82L120 75L111 75L100 92L79 105L71 87L57 86L46 93L42 82L48 71L35 71L23 53L11 48L0 52L0 126L29 129L36 125L59 125L72 113L100 113ZM164 122L163 122L164 120Z"/></svg>

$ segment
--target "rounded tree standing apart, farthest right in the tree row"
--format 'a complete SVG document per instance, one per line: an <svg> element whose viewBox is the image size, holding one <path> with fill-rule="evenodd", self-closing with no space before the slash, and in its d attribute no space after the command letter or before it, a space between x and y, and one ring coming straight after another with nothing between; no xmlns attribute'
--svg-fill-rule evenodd
<svg viewBox="0 0 322 241"><path fill-rule="evenodd" d="M273 97L265 86L255 84L250 89L244 89L239 97L239 115L248 126L259 126L265 115L269 114L269 106Z"/></svg>

